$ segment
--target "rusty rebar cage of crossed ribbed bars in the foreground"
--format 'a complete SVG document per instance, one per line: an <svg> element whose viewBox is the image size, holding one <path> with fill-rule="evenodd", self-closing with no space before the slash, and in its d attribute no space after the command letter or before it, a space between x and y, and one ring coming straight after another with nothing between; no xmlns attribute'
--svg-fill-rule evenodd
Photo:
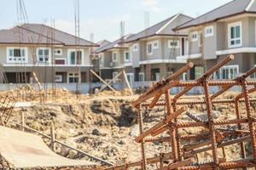
<svg viewBox="0 0 256 170"><path fill-rule="evenodd" d="M256 136L255 125L256 119L253 117L255 113L251 110L251 103L256 99L249 97L249 94L256 91L256 81L247 80L256 72L256 67L247 71L233 80L213 80L213 74L228 64L233 55L227 56L217 65L214 65L210 70L206 71L201 77L191 82L179 80L179 77L184 72L189 71L194 65L189 63L182 69L178 70L172 76L167 77L148 89L138 99L132 102L138 112L138 123L140 127L140 135L137 136L137 143L141 144L141 160L137 162L120 165L118 167L110 167L108 169L129 169L130 167L141 167L146 170L148 164L159 163L159 169L236 169L247 167L256 167ZM222 99L221 94L228 91L230 88L238 86L241 88L241 94L234 99ZM171 89L181 87L178 94L171 96ZM203 88L204 99L183 99L183 95L187 94L192 88ZM210 93L211 87L219 87L220 90L215 93ZM161 96L164 96L164 99ZM241 116L240 104L245 105L246 114ZM218 104L234 104L236 119L230 120L215 120L212 114L212 105ZM202 120L191 113L188 113L189 105L206 105L207 120ZM166 117L161 122L156 123L153 127L143 131L143 109L148 110L157 106L166 107ZM178 116L186 114L191 118L191 122L180 122ZM221 126L235 125L235 128L221 128ZM248 127L248 129L242 129ZM201 127L203 132L181 135L181 128ZM170 135L165 136L164 132L169 131ZM165 137L157 137L159 134ZM204 140L202 140L204 139ZM186 141L193 141L192 144L186 144ZM159 156L146 158L145 144L148 142L167 142L170 143L172 152L161 153ZM203 141L203 142L202 142ZM252 148L252 157L247 156L245 143ZM240 144L241 157L238 160L227 161L225 157L224 147L231 144ZM223 150L222 156L218 154L218 149ZM197 154L211 151L212 159L200 162L197 159ZM168 161L164 164L164 161Z"/></svg>

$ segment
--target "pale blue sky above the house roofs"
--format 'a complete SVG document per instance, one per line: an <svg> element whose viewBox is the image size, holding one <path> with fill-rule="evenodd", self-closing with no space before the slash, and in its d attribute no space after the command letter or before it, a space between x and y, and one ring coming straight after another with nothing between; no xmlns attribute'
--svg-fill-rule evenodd
<svg viewBox="0 0 256 170"><path fill-rule="evenodd" d="M24 0L30 23L50 25L74 34L74 0ZM230 0L80 0L80 37L95 42L119 38L119 22L125 21L125 33L145 28L144 13L149 12L149 25L183 13L196 17ZM0 29L17 23L16 0L0 0Z"/></svg>

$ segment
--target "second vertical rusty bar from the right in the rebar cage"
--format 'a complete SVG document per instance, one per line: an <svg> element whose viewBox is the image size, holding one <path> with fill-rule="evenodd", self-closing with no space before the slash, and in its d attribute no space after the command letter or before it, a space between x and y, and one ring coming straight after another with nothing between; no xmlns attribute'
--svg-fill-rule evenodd
<svg viewBox="0 0 256 170"><path fill-rule="evenodd" d="M204 80L203 86L205 89L205 96L206 96L208 126L209 126L211 141L212 141L212 157L213 157L214 163L218 165L217 141L216 141L215 127L213 124L214 123L213 116L212 116L212 100L211 100L210 89L209 89L207 80Z"/></svg>

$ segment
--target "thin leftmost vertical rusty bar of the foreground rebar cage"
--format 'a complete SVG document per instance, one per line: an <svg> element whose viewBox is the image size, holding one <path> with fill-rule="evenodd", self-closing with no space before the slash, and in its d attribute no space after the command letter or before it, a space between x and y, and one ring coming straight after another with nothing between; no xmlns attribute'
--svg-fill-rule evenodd
<svg viewBox="0 0 256 170"><path fill-rule="evenodd" d="M139 130L140 130L140 134L142 134L143 133L143 115L142 115L140 105L137 106L137 114L138 114L137 121L139 124ZM141 142L141 154L142 154L142 170L146 170L147 162L146 162L146 158L145 158L144 139Z"/></svg>

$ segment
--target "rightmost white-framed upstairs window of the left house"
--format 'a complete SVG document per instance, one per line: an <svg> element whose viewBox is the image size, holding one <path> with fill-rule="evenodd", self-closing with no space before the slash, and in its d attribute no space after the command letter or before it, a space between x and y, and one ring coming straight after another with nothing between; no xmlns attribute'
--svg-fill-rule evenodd
<svg viewBox="0 0 256 170"><path fill-rule="evenodd" d="M68 65L82 65L84 58L84 50L67 49Z"/></svg>

